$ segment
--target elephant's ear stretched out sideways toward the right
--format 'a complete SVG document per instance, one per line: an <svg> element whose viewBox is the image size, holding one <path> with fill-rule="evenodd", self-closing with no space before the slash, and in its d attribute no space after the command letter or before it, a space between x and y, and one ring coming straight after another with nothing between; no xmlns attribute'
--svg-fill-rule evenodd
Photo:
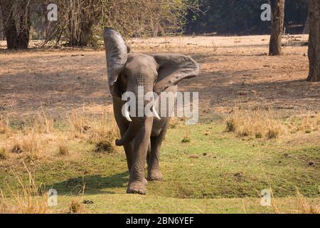
<svg viewBox="0 0 320 228"><path fill-rule="evenodd" d="M169 86L175 86L184 78L193 78L200 73L200 66L189 56L179 54L153 55L159 65L158 79L154 91L160 93Z"/></svg>

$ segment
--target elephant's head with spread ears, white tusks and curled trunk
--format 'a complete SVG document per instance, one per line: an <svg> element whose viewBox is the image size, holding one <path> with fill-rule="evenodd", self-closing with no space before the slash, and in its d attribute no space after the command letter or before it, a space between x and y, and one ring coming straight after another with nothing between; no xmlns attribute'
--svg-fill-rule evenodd
<svg viewBox="0 0 320 228"><path fill-rule="evenodd" d="M114 99L121 98L125 92L132 92L138 97L138 88L148 92L161 93L170 86L176 86L184 78L193 78L200 73L200 66L188 56L161 53L152 56L130 53L130 48L122 36L112 28L105 28L105 50L110 93ZM158 114L152 108L154 116ZM132 140L134 133L142 127L144 118L130 118L124 107L124 117L129 128L117 145Z"/></svg>

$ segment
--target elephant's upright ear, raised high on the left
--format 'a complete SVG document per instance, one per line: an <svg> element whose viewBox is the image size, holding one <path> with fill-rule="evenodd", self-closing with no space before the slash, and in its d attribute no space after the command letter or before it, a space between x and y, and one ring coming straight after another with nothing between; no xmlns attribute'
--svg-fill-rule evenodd
<svg viewBox="0 0 320 228"><path fill-rule="evenodd" d="M110 86L110 93L117 95L117 88L115 83L119 73L123 70L127 55L130 51L129 46L124 41L124 38L112 28L105 28L103 31L105 39L105 53L107 56L107 73Z"/></svg>

